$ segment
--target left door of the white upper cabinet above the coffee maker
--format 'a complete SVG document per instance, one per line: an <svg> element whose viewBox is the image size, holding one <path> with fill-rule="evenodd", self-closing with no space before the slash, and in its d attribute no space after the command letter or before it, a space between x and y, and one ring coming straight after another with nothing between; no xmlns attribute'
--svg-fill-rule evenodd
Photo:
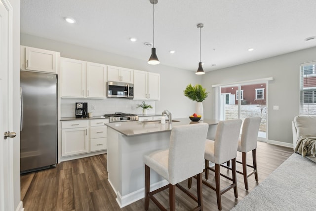
<svg viewBox="0 0 316 211"><path fill-rule="evenodd" d="M86 62L61 58L62 97L85 97Z"/></svg>

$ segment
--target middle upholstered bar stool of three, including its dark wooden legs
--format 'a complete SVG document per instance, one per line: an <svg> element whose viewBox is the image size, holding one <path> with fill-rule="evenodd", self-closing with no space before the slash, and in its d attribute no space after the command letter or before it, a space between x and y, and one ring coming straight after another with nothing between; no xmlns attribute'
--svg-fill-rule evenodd
<svg viewBox="0 0 316 211"><path fill-rule="evenodd" d="M208 179L209 169L215 172L215 187L207 181L202 181L203 184L216 191L217 207L222 210L221 195L228 190L234 188L235 197L238 198L237 179L236 179L236 157L238 137L242 121L227 120L220 121L216 128L215 138L213 140L206 140L205 143L205 179ZM215 164L215 170L209 167L209 161ZM232 161L232 178L220 173L221 164ZM221 189L220 176L223 176L233 183Z"/></svg>

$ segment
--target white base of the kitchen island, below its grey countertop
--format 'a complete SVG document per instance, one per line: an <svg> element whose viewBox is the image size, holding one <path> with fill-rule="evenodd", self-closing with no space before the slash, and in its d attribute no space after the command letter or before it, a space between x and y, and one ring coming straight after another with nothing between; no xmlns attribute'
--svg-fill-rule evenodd
<svg viewBox="0 0 316 211"><path fill-rule="evenodd" d="M111 149L107 152L108 180L117 194L120 207L144 198L143 157L156 150L167 149L170 134L171 131L166 131L129 137L108 128L108 148ZM164 178L151 171L151 188L165 184Z"/></svg>

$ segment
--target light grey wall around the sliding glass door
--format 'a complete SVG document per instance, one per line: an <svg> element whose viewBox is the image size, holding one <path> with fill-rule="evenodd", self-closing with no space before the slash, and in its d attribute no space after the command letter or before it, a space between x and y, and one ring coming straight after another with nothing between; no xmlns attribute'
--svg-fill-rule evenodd
<svg viewBox="0 0 316 211"><path fill-rule="evenodd" d="M299 66L315 60L316 47L308 48L206 73L202 85L213 96L211 86L214 84L273 77L268 91L268 139L289 145L292 143L291 122L299 114ZM213 101L213 97L204 101L206 118L213 118ZM279 110L273 110L273 105L278 105Z"/></svg>

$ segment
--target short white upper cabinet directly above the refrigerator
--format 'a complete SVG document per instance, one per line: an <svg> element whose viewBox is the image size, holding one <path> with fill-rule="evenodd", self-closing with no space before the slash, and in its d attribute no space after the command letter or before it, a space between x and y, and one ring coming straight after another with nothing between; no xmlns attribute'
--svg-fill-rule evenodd
<svg viewBox="0 0 316 211"><path fill-rule="evenodd" d="M20 69L58 74L60 53L20 46Z"/></svg>

